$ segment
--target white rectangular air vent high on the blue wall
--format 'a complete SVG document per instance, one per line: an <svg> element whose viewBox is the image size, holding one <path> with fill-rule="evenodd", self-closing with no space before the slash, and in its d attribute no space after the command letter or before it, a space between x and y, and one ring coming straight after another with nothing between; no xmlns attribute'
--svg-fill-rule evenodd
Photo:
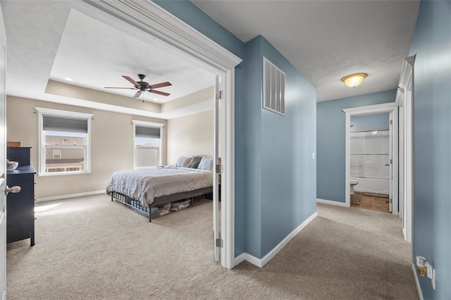
<svg viewBox="0 0 451 300"><path fill-rule="evenodd" d="M263 58L263 108L285 115L285 73Z"/></svg>

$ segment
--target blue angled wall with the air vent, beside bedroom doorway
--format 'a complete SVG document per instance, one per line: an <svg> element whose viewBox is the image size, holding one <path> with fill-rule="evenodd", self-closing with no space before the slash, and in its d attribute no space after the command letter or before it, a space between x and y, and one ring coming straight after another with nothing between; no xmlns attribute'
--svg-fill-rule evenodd
<svg viewBox="0 0 451 300"><path fill-rule="evenodd" d="M155 3L243 59L235 68L235 256L262 258L316 211L316 89L264 38L244 44L190 1ZM261 108L263 56L287 74L285 117Z"/></svg>

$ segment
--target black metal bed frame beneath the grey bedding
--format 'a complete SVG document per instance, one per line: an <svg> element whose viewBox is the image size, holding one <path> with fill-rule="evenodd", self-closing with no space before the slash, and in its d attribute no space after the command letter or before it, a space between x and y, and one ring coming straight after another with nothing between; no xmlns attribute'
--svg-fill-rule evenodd
<svg viewBox="0 0 451 300"><path fill-rule="evenodd" d="M154 199L154 202L149 205L149 207L144 207L141 205L141 201L137 199L133 199L129 196L126 196L124 194L121 194L119 192L110 192L109 195L111 196L111 201L118 201L122 204L125 204L127 206L130 206L133 211L137 211L138 213L142 213L149 217L149 222L152 222L152 207L155 206L163 206L165 204L169 204L173 201L183 200L183 199L190 199L191 200L191 206L193 204L193 198L197 196L204 196L206 194L211 194L213 192L213 187L204 187L202 189L195 189L194 191L190 192L182 192L177 194L171 194L171 195L165 195L165 196L159 196Z"/></svg>

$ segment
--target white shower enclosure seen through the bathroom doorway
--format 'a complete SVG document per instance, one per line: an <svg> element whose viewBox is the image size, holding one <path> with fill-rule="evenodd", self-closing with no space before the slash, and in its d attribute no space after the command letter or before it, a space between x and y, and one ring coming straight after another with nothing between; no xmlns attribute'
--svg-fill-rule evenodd
<svg viewBox="0 0 451 300"><path fill-rule="evenodd" d="M352 130L350 132L350 179L357 180L357 192L390 193L390 132Z"/></svg>

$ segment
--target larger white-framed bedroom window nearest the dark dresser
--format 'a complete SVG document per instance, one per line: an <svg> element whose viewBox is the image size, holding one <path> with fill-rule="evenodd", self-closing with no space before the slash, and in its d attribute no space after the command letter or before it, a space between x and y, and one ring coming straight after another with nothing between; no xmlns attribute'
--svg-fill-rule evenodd
<svg viewBox="0 0 451 300"><path fill-rule="evenodd" d="M36 108L39 175L90 173L92 114Z"/></svg>

